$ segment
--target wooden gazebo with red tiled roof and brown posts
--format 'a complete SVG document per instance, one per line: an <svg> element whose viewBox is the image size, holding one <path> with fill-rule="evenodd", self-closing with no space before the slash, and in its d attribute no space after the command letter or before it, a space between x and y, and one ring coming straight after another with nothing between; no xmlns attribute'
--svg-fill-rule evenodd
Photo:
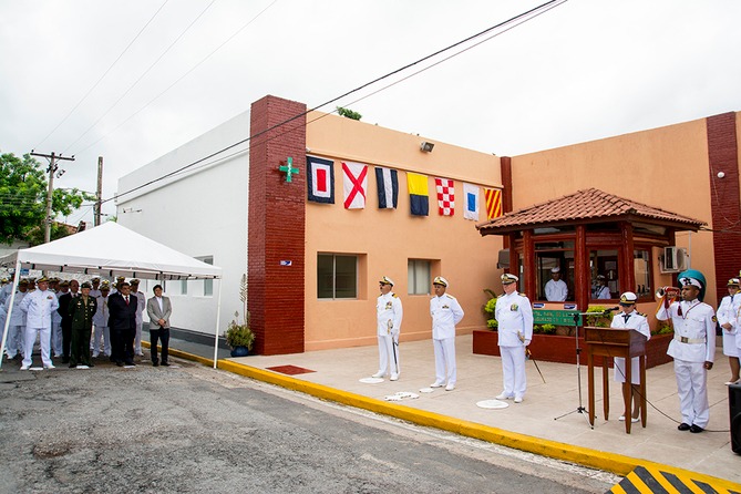
<svg viewBox="0 0 741 494"><path fill-rule="evenodd" d="M597 300L603 279L609 289L609 297L599 299L603 303L617 303L624 291L636 292L639 302L653 301L657 268L665 274L678 271L673 259L665 258L665 247L675 246L677 231L697 231L702 225L588 188L507 213L476 228L482 236L505 237L510 256L508 266L503 267L519 276L519 289L532 301L550 302L544 287L557 267L568 286L566 300L559 302L586 310Z"/></svg>

